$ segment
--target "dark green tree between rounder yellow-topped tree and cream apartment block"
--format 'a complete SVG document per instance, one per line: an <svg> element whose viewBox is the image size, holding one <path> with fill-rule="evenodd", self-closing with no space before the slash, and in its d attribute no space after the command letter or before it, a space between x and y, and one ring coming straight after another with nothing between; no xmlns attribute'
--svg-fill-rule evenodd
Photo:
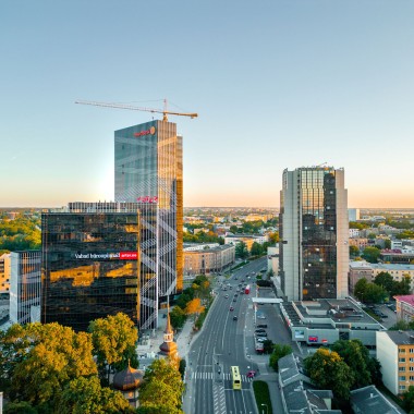
<svg viewBox="0 0 414 414"><path fill-rule="evenodd" d="M353 388L372 383L369 352L360 340L339 340L332 344L331 350L337 352L351 368L354 377Z"/></svg>

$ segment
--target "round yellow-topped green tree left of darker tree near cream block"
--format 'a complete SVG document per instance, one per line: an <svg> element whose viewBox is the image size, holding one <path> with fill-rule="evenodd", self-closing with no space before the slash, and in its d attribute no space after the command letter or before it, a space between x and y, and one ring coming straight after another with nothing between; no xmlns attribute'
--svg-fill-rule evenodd
<svg viewBox="0 0 414 414"><path fill-rule="evenodd" d="M320 348L304 363L309 378L318 387L332 390L334 397L342 401L349 399L354 377L337 352Z"/></svg>

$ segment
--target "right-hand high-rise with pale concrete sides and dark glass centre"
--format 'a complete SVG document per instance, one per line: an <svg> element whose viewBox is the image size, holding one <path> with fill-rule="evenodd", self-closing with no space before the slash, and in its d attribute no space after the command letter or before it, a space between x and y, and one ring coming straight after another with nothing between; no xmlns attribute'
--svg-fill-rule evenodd
<svg viewBox="0 0 414 414"><path fill-rule="evenodd" d="M348 295L346 204L343 169L283 171L280 276L289 301Z"/></svg>

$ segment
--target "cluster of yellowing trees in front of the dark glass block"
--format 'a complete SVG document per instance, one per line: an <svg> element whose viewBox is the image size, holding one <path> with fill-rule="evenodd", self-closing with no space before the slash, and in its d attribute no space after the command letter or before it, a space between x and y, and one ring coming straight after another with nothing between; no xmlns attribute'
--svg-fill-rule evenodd
<svg viewBox="0 0 414 414"><path fill-rule="evenodd" d="M110 368L122 369L129 360L137 367L136 341L137 330L124 314L97 319L89 332L78 333L59 324L13 325L0 332L0 389L11 401L5 409L132 412L122 394L107 386ZM27 410L16 411L20 405Z"/></svg>

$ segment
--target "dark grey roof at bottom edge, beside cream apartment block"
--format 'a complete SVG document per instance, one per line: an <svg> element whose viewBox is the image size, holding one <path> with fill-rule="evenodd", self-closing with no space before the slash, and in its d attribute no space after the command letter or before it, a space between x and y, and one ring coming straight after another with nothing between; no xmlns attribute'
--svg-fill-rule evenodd
<svg viewBox="0 0 414 414"><path fill-rule="evenodd" d="M375 386L351 391L351 405L358 413L398 414L398 411Z"/></svg>

